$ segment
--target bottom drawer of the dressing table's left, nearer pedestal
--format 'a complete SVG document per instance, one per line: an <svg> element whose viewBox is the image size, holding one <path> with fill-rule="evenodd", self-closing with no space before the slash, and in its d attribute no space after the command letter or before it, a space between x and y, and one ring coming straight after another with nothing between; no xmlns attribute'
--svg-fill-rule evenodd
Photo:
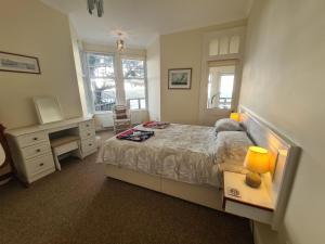
<svg viewBox="0 0 325 244"><path fill-rule="evenodd" d="M52 154L46 154L32 159L26 160L26 171L27 176L31 177L43 170L54 167L54 160Z"/></svg>

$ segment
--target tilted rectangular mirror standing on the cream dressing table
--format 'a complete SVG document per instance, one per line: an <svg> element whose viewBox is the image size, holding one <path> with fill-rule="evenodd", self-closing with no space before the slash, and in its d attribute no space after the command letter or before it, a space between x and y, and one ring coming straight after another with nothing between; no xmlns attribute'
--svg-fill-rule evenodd
<svg viewBox="0 0 325 244"><path fill-rule="evenodd" d="M40 124L63 120L61 106L56 98L37 97L32 100Z"/></svg>

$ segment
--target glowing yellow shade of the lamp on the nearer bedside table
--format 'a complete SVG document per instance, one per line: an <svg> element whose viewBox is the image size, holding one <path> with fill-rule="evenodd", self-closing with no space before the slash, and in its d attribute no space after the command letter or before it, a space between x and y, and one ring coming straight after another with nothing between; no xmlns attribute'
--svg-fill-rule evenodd
<svg viewBox="0 0 325 244"><path fill-rule="evenodd" d="M270 171L268 150L259 146L249 146L244 166L252 172L264 174Z"/></svg>

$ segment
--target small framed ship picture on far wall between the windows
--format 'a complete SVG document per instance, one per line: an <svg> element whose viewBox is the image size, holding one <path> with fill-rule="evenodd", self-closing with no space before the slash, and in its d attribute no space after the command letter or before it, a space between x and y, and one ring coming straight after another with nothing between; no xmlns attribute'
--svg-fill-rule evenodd
<svg viewBox="0 0 325 244"><path fill-rule="evenodd" d="M191 89L192 68L168 69L168 89Z"/></svg>

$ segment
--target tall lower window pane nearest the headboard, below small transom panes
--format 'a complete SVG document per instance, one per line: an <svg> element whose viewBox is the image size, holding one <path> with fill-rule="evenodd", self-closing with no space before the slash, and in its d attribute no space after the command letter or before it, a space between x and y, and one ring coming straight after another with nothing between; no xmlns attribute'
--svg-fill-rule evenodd
<svg viewBox="0 0 325 244"><path fill-rule="evenodd" d="M230 110L232 107L235 65L222 62L209 63L207 108Z"/></svg>

